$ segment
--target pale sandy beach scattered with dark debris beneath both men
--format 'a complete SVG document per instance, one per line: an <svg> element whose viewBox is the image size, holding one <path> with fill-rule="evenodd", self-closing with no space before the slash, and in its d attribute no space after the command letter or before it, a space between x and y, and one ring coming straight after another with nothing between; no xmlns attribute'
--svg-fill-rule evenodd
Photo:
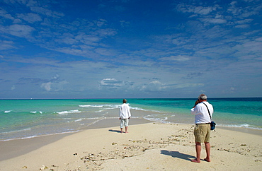
<svg viewBox="0 0 262 171"><path fill-rule="evenodd" d="M0 170L261 170L261 134L217 126L211 162L192 163L193 128L135 119L121 134L117 119L103 119L74 134L1 141Z"/></svg>

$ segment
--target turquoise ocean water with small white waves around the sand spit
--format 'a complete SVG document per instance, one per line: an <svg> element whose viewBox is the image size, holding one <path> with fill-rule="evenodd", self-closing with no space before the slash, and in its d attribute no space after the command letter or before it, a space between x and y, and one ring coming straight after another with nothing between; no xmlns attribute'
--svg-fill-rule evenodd
<svg viewBox="0 0 262 171"><path fill-rule="evenodd" d="M132 117L193 124L196 99L127 99ZM217 126L262 130L262 98L210 98ZM0 141L76 132L118 118L122 99L0 100Z"/></svg>

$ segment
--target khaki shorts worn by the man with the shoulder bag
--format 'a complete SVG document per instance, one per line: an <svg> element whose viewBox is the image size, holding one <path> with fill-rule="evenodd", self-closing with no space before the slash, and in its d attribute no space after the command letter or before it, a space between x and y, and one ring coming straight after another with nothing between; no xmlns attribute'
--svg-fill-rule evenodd
<svg viewBox="0 0 262 171"><path fill-rule="evenodd" d="M195 142L209 143L210 142L210 124L195 124L194 136Z"/></svg>

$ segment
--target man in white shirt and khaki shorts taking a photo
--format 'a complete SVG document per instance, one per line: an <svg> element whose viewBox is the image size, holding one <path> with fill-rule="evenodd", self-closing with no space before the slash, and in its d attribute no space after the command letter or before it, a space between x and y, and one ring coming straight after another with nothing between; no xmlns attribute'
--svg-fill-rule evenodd
<svg viewBox="0 0 262 171"><path fill-rule="evenodd" d="M207 157L204 159L207 162L210 162L210 115L214 112L213 106L207 102L207 96L201 94L198 96L198 100L195 102L195 106L191 109L191 114L195 114L195 151L196 158L191 160L191 162L200 163L200 153L201 153L201 143L205 143L205 151Z"/></svg>

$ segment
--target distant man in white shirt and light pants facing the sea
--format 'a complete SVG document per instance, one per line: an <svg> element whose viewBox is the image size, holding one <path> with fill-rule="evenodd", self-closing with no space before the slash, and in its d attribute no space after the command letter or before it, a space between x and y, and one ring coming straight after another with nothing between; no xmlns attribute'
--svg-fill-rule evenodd
<svg viewBox="0 0 262 171"><path fill-rule="evenodd" d="M123 133L124 125L125 125L125 133L128 133L127 127L130 117L131 117L130 107L129 105L127 105L127 100L124 99L123 104L120 106L120 114L119 114L121 133Z"/></svg>

